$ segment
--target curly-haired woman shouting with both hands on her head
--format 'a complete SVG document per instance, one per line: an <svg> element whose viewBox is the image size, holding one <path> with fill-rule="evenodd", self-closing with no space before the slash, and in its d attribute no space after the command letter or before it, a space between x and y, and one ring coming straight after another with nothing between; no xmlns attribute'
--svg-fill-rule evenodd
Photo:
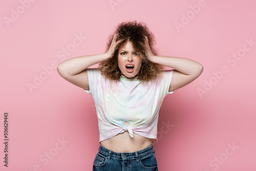
<svg viewBox="0 0 256 171"><path fill-rule="evenodd" d="M158 56L154 42L144 23L121 23L105 53L71 58L57 67L94 98L100 147L93 170L158 170L153 143L163 98L195 80L203 66ZM96 63L99 68L88 68Z"/></svg>

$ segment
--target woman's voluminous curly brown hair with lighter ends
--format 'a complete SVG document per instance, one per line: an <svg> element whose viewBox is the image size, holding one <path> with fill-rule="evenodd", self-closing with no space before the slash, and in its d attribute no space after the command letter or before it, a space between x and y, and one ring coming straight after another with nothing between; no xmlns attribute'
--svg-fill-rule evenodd
<svg viewBox="0 0 256 171"><path fill-rule="evenodd" d="M118 67L118 52L119 48L123 47L127 41L131 41L134 47L134 50L142 59L141 68L139 71L138 79L141 81L150 81L157 78L157 75L163 69L163 66L158 65L157 63L153 63L148 60L146 57L145 47L143 46L145 43L145 37L147 36L148 44L150 45L151 51L154 55L157 55L157 51L154 48L155 37L154 34L148 30L146 24L137 21L133 22L124 22L120 23L114 33L109 36L108 44L106 46L106 51L110 48L111 42L113 40L114 35L117 34L116 41L120 39L124 39L121 41L115 48L114 53L108 59L99 63L99 70L101 75L106 78L113 80L120 80L121 71ZM105 52L106 52L105 51Z"/></svg>

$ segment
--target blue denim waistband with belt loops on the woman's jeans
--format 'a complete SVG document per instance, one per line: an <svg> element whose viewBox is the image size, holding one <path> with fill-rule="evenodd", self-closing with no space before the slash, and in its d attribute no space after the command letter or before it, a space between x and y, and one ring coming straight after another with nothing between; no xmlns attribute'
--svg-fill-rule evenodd
<svg viewBox="0 0 256 171"><path fill-rule="evenodd" d="M117 152L113 152L108 148L103 147L101 144L99 146L99 153L108 156L108 160L110 160L110 158L115 158L117 160L131 160L131 159L137 159L141 158L143 156L146 156L148 154L151 153L155 153L155 149L153 147L153 144L151 144L150 146L141 149L140 151L137 152L132 152L132 153L117 153Z"/></svg>

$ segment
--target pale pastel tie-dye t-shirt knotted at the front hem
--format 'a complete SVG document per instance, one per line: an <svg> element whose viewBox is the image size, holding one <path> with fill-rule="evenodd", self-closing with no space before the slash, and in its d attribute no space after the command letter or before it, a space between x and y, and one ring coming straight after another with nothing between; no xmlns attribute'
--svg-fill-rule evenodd
<svg viewBox="0 0 256 171"><path fill-rule="evenodd" d="M157 140L160 106L169 92L174 70L162 70L157 79L142 82L120 76L110 80L98 68L87 68L90 90L94 99L99 126L99 142L128 131ZM124 122L130 123L124 126Z"/></svg>

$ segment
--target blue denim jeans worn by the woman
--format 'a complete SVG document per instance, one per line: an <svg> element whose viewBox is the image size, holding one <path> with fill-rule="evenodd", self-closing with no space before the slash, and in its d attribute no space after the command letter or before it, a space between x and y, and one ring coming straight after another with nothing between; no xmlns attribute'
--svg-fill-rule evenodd
<svg viewBox="0 0 256 171"><path fill-rule="evenodd" d="M153 145L133 153L116 153L100 144L93 171L155 171L157 160Z"/></svg>

